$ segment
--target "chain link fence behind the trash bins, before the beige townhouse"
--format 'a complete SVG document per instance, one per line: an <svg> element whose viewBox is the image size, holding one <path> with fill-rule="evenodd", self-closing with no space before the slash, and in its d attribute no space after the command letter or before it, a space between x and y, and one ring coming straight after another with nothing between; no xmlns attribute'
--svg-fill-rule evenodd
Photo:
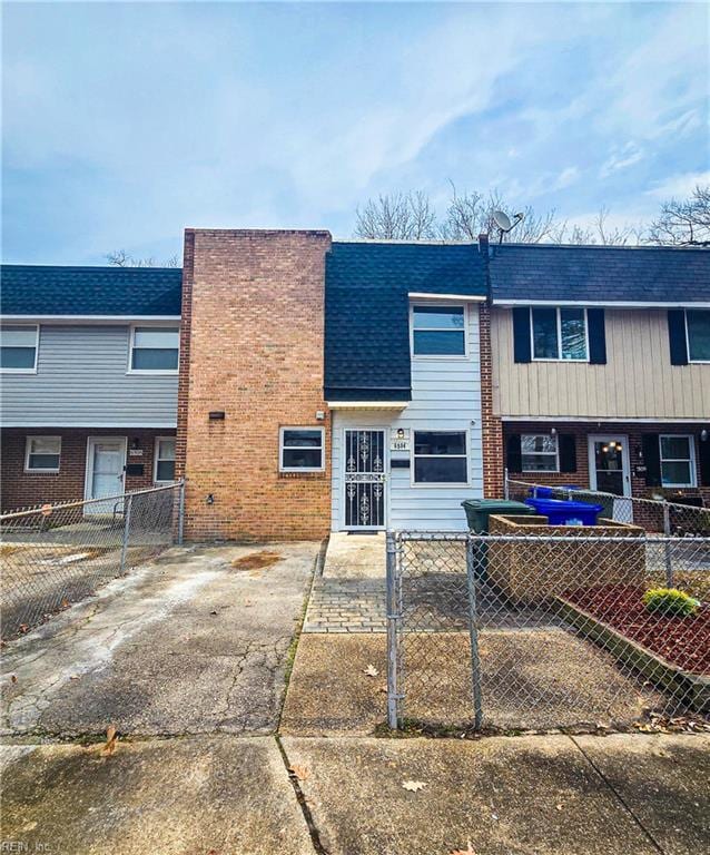
<svg viewBox="0 0 710 855"><path fill-rule="evenodd" d="M642 525L649 532L673 537L710 537L710 508L702 507L702 499L687 498L680 501L642 499L635 495L615 495L600 490L575 487L551 487L530 481L515 481L505 476L505 498L524 501L532 497L573 499L588 504L601 504L600 517L617 522ZM697 502L690 504L690 502Z"/></svg>

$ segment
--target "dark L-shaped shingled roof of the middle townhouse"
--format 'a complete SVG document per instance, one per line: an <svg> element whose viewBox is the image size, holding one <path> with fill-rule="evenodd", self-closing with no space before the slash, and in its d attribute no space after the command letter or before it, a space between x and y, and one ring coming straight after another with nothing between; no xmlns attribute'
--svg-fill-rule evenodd
<svg viewBox="0 0 710 855"><path fill-rule="evenodd" d="M472 244L334 242L325 268L325 397L408 401L410 293L485 296Z"/></svg>

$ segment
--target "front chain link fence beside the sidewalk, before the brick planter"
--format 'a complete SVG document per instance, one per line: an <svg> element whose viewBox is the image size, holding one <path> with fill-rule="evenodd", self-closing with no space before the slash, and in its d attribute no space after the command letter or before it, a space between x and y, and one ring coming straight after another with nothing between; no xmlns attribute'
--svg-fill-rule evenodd
<svg viewBox="0 0 710 855"><path fill-rule="evenodd" d="M707 716L710 539L628 532L388 534L391 727Z"/></svg>

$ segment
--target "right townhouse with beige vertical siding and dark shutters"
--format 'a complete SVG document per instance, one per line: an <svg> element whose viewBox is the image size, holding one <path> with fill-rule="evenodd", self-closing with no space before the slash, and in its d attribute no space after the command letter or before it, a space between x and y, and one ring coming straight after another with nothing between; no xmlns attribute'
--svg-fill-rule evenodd
<svg viewBox="0 0 710 855"><path fill-rule="evenodd" d="M710 499L710 250L509 244L490 277L510 476Z"/></svg>

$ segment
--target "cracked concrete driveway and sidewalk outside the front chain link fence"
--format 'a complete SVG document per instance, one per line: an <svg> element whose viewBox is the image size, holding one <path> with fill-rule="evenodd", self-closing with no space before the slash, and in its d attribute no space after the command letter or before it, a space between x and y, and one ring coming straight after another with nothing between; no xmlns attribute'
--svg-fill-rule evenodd
<svg viewBox="0 0 710 855"><path fill-rule="evenodd" d="M280 556L273 566L233 566L266 549ZM374 661L384 675L373 636L347 650L342 636L304 636L279 725L318 549L171 550L8 645L1 845L82 855L710 848L710 738L373 738L385 697L363 670ZM111 754L97 743L108 724L120 734Z"/></svg>

